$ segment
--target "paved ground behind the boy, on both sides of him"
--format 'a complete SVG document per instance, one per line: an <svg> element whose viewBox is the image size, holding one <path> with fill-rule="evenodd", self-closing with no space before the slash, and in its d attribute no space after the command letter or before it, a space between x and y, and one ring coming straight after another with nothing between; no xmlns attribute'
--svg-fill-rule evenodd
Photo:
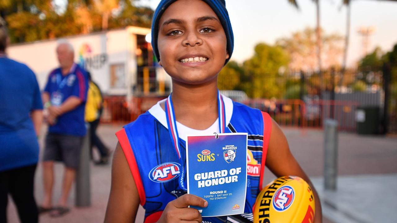
<svg viewBox="0 0 397 223"><path fill-rule="evenodd" d="M114 133L121 126L102 125L100 136L111 148L116 145ZM45 129L43 129L45 131ZM283 129L291 151L303 169L312 179L320 194L323 205L324 222L396 222L397 212L397 138L384 136L358 136L353 133L339 134L338 189L336 192L323 189L323 143L324 133L309 130L302 135L299 129ZM41 139L42 145L42 139ZM54 219L44 214L42 223L87 223L103 222L110 191L110 165L91 164L91 198L88 208L74 207L74 187L69 197L71 212ZM63 174L62 165L56 165L54 203L60 194ZM266 170L264 182L275 177ZM36 172L35 194L40 204L43 195L42 169ZM12 202L8 207L9 223L19 222ZM138 213L137 222L142 222L143 210Z"/></svg>

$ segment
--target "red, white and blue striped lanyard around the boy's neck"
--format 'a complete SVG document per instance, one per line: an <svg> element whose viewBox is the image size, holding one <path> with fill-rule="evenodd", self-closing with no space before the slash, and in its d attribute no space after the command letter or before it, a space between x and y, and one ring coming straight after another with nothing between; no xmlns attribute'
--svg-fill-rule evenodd
<svg viewBox="0 0 397 223"><path fill-rule="evenodd" d="M181 157L181 150L179 149L179 135L176 127L175 112L173 109L171 95L172 93L170 94L170 96L168 96L166 100L168 133L170 133L173 146L179 158L179 163L181 164L181 173L179 175L179 186L183 190L187 190L187 186L185 185L184 182L185 168ZM225 103L219 90L218 90L218 124L219 124L220 133L225 133Z"/></svg>

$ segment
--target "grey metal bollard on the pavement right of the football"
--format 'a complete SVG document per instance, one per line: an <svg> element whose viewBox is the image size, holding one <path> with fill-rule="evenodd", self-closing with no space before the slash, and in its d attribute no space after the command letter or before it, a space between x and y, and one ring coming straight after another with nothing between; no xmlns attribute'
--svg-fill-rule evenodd
<svg viewBox="0 0 397 223"><path fill-rule="evenodd" d="M324 188L336 190L338 173L338 122L325 120L324 129Z"/></svg>

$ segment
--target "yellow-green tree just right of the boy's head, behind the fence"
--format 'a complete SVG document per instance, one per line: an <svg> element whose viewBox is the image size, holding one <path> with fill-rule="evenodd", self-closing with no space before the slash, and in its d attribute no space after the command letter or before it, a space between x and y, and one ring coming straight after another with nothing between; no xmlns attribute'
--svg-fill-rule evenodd
<svg viewBox="0 0 397 223"><path fill-rule="evenodd" d="M254 56L243 65L245 75L251 79L251 86L243 85L245 92L252 98L281 97L284 89L277 82L278 71L287 66L289 56L281 47L265 43L257 44L254 51Z"/></svg>

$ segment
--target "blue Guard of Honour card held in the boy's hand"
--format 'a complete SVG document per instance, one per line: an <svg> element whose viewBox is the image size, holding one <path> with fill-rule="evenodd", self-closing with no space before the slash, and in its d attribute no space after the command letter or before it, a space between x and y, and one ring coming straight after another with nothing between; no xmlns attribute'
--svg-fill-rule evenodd
<svg viewBox="0 0 397 223"><path fill-rule="evenodd" d="M204 198L202 217L244 213L247 133L187 136L187 193Z"/></svg>

